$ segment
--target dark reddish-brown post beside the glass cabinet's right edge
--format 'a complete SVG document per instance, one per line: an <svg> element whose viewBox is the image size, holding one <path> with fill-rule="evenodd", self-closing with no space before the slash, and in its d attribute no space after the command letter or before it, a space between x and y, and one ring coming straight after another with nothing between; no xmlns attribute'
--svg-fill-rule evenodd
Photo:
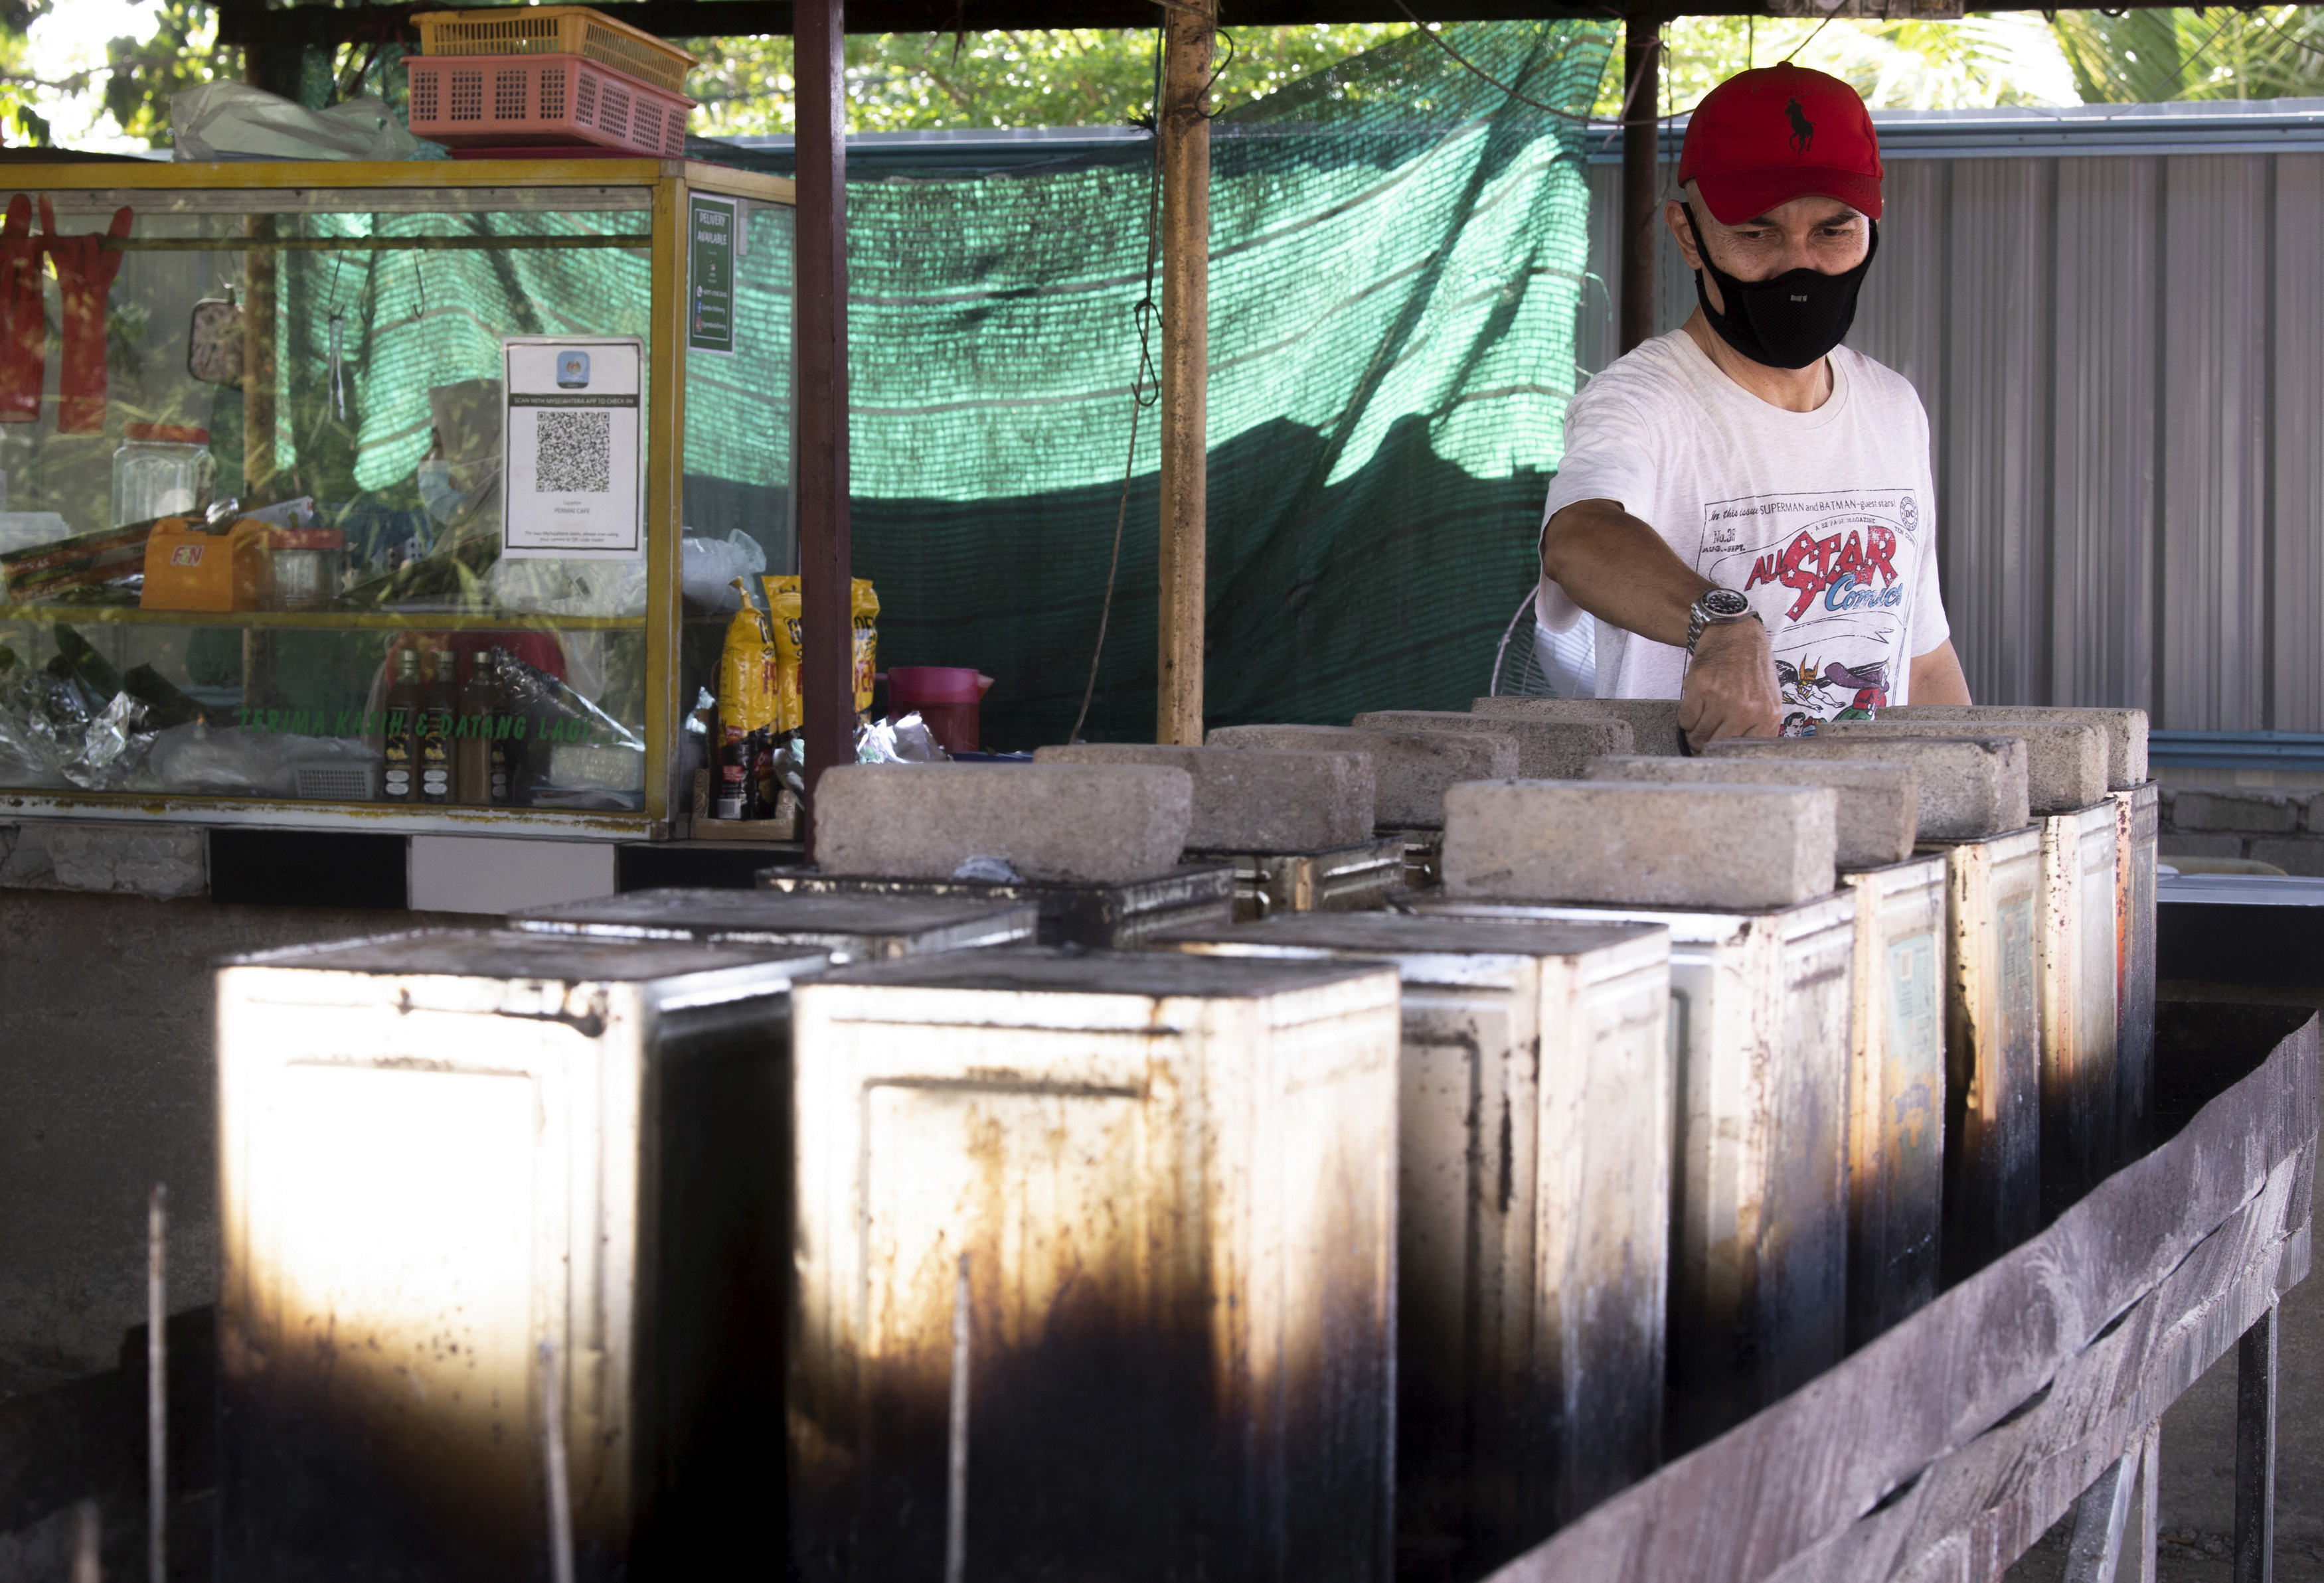
<svg viewBox="0 0 2324 1583"><path fill-rule="evenodd" d="M848 618L848 167L846 0L792 7L799 128L799 686L806 816L816 779L855 758L855 632ZM813 848L809 848L813 851Z"/></svg>

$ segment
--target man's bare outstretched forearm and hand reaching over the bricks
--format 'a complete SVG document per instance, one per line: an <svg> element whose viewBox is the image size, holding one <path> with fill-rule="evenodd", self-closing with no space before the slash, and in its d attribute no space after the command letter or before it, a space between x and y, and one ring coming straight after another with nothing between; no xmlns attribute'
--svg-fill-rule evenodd
<svg viewBox="0 0 2324 1583"><path fill-rule="evenodd" d="M1599 621L1673 649L1687 646L1687 607L1715 586L1618 500L1576 500L1557 511L1541 530L1541 574ZM1773 737L1780 700L1766 628L1715 625L1694 644L1678 728L1697 748L1717 737Z"/></svg>

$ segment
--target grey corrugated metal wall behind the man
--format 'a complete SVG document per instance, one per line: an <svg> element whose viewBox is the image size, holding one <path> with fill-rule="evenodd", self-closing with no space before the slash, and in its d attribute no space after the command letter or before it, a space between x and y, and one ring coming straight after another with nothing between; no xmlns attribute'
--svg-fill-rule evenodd
<svg viewBox="0 0 2324 1583"><path fill-rule="evenodd" d="M1929 121L1850 344L1929 407L1975 697L2324 732L2324 149L1948 158ZM1611 281L1620 167L1590 174ZM1694 309L1666 237L1657 298ZM1592 288L1583 367L1611 344Z"/></svg>

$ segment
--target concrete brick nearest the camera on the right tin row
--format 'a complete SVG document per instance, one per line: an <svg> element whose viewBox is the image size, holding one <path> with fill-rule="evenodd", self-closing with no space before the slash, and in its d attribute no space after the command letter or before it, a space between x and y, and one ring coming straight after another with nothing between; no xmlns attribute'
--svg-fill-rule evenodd
<svg viewBox="0 0 2324 1583"><path fill-rule="evenodd" d="M1448 897L1794 907L1838 881L1829 786L1469 781L1446 793Z"/></svg>

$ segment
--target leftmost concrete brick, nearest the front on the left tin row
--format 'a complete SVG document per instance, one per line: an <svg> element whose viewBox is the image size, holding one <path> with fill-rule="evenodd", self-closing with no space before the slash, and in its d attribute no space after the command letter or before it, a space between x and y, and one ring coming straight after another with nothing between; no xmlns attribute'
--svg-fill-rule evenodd
<svg viewBox="0 0 2324 1583"><path fill-rule="evenodd" d="M839 765L816 783L825 874L953 879L1004 858L1025 879L1125 883L1178 862L1195 779L1160 765Z"/></svg>

